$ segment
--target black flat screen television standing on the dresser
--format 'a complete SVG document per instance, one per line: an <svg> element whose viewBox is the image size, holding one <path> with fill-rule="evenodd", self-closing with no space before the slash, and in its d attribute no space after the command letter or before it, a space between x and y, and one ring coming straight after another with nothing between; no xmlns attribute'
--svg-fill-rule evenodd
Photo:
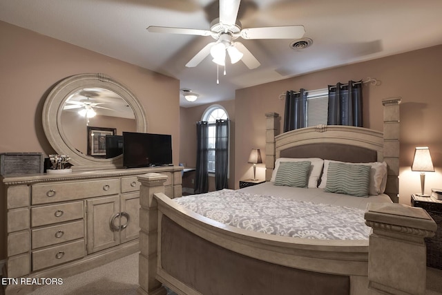
<svg viewBox="0 0 442 295"><path fill-rule="evenodd" d="M126 168L172 164L172 135L123 132L123 166Z"/></svg>

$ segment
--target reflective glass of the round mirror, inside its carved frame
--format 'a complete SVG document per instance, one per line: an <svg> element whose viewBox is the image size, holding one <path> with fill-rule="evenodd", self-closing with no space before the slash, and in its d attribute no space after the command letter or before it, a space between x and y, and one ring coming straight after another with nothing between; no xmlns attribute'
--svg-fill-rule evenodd
<svg viewBox="0 0 442 295"><path fill-rule="evenodd" d="M95 158L109 158L106 157L106 133L90 133L88 126L95 127L94 130L115 129L113 135L137 130L128 102L105 88L83 88L70 95L63 106L61 126L77 151Z"/></svg>

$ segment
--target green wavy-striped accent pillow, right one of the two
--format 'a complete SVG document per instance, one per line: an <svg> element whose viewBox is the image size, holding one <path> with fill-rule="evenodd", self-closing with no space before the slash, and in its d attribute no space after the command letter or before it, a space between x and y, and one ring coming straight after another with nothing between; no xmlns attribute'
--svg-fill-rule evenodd
<svg viewBox="0 0 442 295"><path fill-rule="evenodd" d="M356 197L369 195L370 166L330 162L325 191Z"/></svg>

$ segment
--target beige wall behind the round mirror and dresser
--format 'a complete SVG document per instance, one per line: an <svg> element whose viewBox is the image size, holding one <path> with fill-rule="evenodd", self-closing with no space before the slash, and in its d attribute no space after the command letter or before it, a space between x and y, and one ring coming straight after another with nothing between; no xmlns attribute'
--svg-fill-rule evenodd
<svg viewBox="0 0 442 295"><path fill-rule="evenodd" d="M50 89L71 75L104 73L124 84L140 100L146 111L148 132L172 135L173 161L178 163L180 82L177 79L1 21L0 36L0 153L53 153L41 123L41 111ZM0 207L4 208L3 202ZM4 212L0 216L3 218ZM6 256L4 219L0 223L2 260Z"/></svg>

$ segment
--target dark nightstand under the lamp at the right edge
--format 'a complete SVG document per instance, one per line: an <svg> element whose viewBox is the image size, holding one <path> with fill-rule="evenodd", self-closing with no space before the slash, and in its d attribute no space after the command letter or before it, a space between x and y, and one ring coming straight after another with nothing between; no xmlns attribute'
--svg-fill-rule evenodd
<svg viewBox="0 0 442 295"><path fill-rule="evenodd" d="M412 206L425 209L437 224L434 237L425 238L427 266L442 269L442 200L412 194Z"/></svg>

